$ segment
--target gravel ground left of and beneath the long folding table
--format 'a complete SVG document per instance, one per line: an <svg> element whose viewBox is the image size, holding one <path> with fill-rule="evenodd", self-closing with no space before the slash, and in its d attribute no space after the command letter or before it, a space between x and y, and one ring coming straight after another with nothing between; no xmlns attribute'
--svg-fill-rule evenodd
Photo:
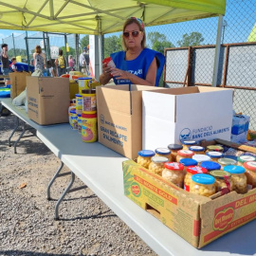
<svg viewBox="0 0 256 256"><path fill-rule="evenodd" d="M46 187L60 160L37 137L21 139L15 155L8 145L12 127L12 115L0 118L1 256L156 255L89 188L67 194L61 220L54 221L69 176L57 179L53 200L47 201ZM20 188L23 183L27 186ZM77 178L74 187L82 185Z"/></svg>

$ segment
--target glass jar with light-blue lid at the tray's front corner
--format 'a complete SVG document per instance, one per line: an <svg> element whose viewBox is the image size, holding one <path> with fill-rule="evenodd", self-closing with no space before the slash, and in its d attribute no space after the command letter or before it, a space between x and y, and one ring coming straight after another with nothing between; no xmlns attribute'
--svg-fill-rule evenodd
<svg viewBox="0 0 256 256"><path fill-rule="evenodd" d="M190 192L209 197L215 193L215 178L209 174L194 174Z"/></svg>

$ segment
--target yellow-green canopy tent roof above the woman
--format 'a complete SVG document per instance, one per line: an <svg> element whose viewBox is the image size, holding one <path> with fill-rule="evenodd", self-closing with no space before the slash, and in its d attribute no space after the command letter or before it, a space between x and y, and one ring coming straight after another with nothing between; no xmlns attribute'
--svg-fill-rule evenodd
<svg viewBox="0 0 256 256"><path fill-rule="evenodd" d="M0 1L0 28L106 34L124 20L141 18L145 26L225 14L226 0L7 0Z"/></svg>

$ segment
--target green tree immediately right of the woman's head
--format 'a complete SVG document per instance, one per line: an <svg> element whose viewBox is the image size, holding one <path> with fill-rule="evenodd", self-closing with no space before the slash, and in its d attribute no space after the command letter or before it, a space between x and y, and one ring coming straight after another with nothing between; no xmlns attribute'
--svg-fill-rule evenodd
<svg viewBox="0 0 256 256"><path fill-rule="evenodd" d="M164 48L174 47L174 44L167 40L164 34L159 32L148 33L148 41L152 49L164 53Z"/></svg>

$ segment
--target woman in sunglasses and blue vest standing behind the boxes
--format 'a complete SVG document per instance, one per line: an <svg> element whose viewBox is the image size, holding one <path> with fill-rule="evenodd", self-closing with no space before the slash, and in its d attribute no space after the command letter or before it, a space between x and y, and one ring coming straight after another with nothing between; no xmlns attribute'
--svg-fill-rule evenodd
<svg viewBox="0 0 256 256"><path fill-rule="evenodd" d="M128 18L122 29L124 51L110 55L116 67L103 64L101 84L106 84L113 76L116 84L157 86L165 58L160 52L146 48L145 45L146 33L143 22L136 17Z"/></svg>

